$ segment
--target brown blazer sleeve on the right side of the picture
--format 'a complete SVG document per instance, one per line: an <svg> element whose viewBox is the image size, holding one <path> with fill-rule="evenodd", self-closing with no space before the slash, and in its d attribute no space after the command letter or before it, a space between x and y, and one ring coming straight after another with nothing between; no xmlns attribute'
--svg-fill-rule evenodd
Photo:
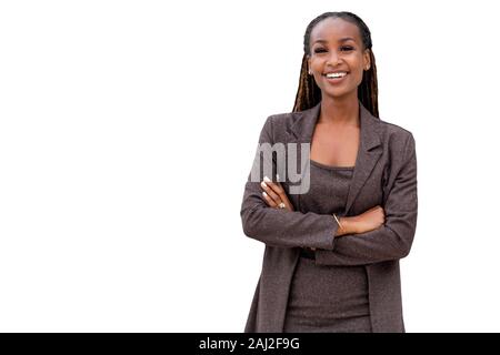
<svg viewBox="0 0 500 355"><path fill-rule="evenodd" d="M377 230L336 237L330 251L316 251L320 265L366 265L407 256L417 227L417 153L410 133L404 159L389 190L383 210L386 223Z"/></svg>

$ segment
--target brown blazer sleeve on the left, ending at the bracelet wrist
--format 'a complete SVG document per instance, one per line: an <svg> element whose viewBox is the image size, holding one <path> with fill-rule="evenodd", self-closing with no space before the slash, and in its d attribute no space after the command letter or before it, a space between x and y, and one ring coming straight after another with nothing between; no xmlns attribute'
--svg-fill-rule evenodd
<svg viewBox="0 0 500 355"><path fill-rule="evenodd" d="M273 116L269 116L261 130L259 144L273 144ZM264 154L266 155L266 154ZM260 153L253 164L260 164ZM276 161L272 161L273 171ZM271 178L271 176L270 176ZM338 225L329 214L290 212L268 206L262 196L260 181L251 181L251 173L244 185L241 203L241 222L247 236L280 247L316 247L330 251Z"/></svg>

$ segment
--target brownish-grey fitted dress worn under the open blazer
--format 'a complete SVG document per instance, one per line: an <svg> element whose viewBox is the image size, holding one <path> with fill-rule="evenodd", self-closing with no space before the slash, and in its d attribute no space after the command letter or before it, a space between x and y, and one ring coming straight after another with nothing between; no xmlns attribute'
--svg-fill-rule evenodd
<svg viewBox="0 0 500 355"><path fill-rule="evenodd" d="M311 160L310 190L301 212L344 213L353 166ZM313 255L313 253L312 253ZM283 332L371 332L364 266L316 265L302 253L293 274Z"/></svg>

